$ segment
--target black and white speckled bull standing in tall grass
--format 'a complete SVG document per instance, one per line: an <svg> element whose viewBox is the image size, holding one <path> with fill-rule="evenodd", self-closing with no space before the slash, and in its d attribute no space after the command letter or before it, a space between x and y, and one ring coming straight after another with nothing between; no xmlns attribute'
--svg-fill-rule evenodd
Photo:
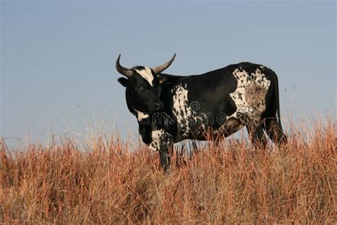
<svg viewBox="0 0 337 225"><path fill-rule="evenodd" d="M279 87L273 70L254 63L237 63L201 75L161 73L176 55L154 68L116 68L127 78L127 107L137 116L142 140L159 151L165 170L171 163L169 149L181 140L219 142L246 126L255 145L266 145L267 135L287 142L279 115Z"/></svg>

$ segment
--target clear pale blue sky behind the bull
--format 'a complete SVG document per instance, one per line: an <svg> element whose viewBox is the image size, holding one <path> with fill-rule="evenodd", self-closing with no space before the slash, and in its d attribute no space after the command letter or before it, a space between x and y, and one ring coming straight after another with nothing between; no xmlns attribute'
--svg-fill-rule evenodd
<svg viewBox="0 0 337 225"><path fill-rule="evenodd" d="M261 63L279 77L284 120L336 114L334 1L1 1L0 136L46 140L100 122L137 133L119 53L128 67L177 53L166 72L181 75Z"/></svg>

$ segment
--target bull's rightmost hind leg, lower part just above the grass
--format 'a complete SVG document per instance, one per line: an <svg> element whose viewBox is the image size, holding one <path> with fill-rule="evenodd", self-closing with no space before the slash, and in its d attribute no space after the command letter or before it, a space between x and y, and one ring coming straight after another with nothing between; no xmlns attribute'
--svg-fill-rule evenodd
<svg viewBox="0 0 337 225"><path fill-rule="evenodd" d="M284 135L281 125L276 118L269 118L265 120L265 130L267 135L276 145L287 144L287 136Z"/></svg>

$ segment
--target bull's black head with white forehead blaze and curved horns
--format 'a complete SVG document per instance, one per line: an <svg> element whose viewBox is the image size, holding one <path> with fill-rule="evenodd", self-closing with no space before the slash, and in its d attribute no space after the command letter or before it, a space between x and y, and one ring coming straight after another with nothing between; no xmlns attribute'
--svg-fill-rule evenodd
<svg viewBox="0 0 337 225"><path fill-rule="evenodd" d="M144 66L124 68L119 63L120 57L119 55L117 58L116 68L127 78L118 78L118 82L126 88L125 95L130 112L137 115L139 121L149 117L151 113L161 112L164 109L164 103L159 99L158 87L156 87L157 75L171 65L176 54L169 62L154 68Z"/></svg>

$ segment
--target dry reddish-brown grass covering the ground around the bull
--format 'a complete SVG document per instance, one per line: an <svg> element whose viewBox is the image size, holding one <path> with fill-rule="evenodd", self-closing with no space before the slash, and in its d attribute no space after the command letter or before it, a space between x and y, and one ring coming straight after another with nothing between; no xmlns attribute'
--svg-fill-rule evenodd
<svg viewBox="0 0 337 225"><path fill-rule="evenodd" d="M295 132L272 152L211 145L176 166L118 140L26 150L1 142L0 220L6 224L336 223L335 124Z"/></svg>

